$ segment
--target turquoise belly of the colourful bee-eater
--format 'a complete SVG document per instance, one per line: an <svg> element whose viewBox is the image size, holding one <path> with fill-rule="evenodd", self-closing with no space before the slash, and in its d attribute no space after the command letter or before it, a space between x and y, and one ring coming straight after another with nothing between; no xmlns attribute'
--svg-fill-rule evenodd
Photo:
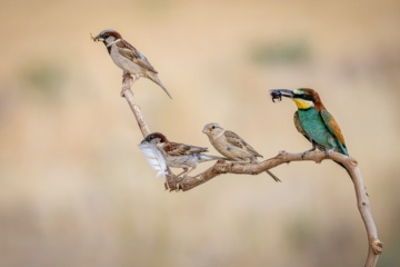
<svg viewBox="0 0 400 267"><path fill-rule="evenodd" d="M338 148L334 136L330 134L320 113L316 109L299 110L299 119L304 131L318 145L323 146L326 149Z"/></svg>

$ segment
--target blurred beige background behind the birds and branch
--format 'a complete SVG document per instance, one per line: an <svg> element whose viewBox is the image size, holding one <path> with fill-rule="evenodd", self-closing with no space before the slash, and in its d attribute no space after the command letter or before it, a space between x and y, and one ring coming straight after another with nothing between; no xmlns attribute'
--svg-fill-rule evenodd
<svg viewBox="0 0 400 267"><path fill-rule="evenodd" d="M331 161L166 191L90 39L108 28L173 97L136 82L150 130L210 154L208 122L264 158L309 149L269 89L318 90L360 162L378 266L399 266L399 1L3 0L0 18L0 266L363 266L354 189Z"/></svg>

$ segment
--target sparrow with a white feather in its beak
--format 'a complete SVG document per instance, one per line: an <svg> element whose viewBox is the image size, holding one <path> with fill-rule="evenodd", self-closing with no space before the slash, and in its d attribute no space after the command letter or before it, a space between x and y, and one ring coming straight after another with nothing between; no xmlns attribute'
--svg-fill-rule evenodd
<svg viewBox="0 0 400 267"><path fill-rule="evenodd" d="M161 132L152 132L148 135L141 142L151 142L158 146L159 149L162 149L166 155L167 165L169 167L183 169L183 171L177 176L184 174L184 177L187 177L196 169L197 165L201 162L218 159L228 160L227 158L202 154L207 152L208 148L171 142ZM189 168L191 169L189 170Z"/></svg>

